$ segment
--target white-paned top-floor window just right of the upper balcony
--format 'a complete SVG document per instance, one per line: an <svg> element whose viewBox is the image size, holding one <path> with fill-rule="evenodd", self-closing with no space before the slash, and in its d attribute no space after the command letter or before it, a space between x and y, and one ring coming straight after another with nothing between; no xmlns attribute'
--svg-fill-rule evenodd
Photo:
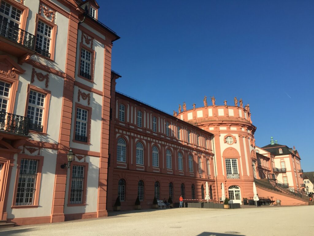
<svg viewBox="0 0 314 236"><path fill-rule="evenodd" d="M37 53L50 58L52 27L42 21L38 21L36 35L36 51Z"/></svg>

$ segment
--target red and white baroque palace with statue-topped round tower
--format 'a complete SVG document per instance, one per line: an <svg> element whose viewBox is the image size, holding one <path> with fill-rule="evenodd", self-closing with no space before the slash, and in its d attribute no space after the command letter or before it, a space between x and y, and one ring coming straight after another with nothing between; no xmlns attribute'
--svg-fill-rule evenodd
<svg viewBox="0 0 314 236"><path fill-rule="evenodd" d="M249 105L169 115L115 91L120 37L94 0L0 0L0 220L23 225L107 216L154 197L253 196L307 205L300 156L255 145ZM239 103L239 104L238 104ZM73 157L73 159L71 159ZM70 158L70 159L69 159ZM280 191L278 191L278 189Z"/></svg>

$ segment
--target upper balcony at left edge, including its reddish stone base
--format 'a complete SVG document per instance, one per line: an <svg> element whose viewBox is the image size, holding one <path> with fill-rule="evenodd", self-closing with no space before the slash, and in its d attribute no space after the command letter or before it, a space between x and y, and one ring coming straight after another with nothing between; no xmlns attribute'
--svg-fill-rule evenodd
<svg viewBox="0 0 314 236"><path fill-rule="evenodd" d="M34 54L35 36L4 20L0 20L0 50L21 57Z"/></svg>

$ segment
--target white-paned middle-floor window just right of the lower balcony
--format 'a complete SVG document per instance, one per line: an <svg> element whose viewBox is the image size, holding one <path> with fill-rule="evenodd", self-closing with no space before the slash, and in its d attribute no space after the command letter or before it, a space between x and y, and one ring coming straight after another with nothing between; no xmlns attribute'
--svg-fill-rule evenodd
<svg viewBox="0 0 314 236"><path fill-rule="evenodd" d="M27 117L30 118L30 130L43 131L43 114L46 95L30 90L27 107Z"/></svg>

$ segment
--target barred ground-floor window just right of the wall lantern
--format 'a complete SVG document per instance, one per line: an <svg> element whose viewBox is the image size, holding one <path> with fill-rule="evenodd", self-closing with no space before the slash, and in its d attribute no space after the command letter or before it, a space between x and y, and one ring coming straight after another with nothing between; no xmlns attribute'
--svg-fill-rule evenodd
<svg viewBox="0 0 314 236"><path fill-rule="evenodd" d="M73 165L70 204L83 203L84 166Z"/></svg>

